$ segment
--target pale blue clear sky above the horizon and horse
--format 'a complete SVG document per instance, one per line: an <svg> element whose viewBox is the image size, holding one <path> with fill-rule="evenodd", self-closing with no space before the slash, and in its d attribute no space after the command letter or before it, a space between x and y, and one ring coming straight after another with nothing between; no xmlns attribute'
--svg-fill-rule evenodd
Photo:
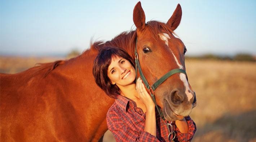
<svg viewBox="0 0 256 142"><path fill-rule="evenodd" d="M138 1L1 0L1 55L58 55L84 51L90 40L111 40L134 28ZM256 55L255 0L141 0L146 21L167 22L180 3L175 30L188 55Z"/></svg>

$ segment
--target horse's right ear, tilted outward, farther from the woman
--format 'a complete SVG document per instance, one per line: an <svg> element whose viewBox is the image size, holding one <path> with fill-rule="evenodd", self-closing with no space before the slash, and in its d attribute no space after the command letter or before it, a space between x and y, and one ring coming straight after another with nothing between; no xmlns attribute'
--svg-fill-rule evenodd
<svg viewBox="0 0 256 142"><path fill-rule="evenodd" d="M177 5L175 11L173 12L171 18L166 23L172 30L175 30L181 21L182 10L180 4Z"/></svg>

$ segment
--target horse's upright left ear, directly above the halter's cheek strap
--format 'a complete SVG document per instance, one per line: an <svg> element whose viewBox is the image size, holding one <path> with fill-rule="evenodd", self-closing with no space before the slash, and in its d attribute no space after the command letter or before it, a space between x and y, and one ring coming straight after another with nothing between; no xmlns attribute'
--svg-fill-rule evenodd
<svg viewBox="0 0 256 142"><path fill-rule="evenodd" d="M145 28L145 13L141 7L140 1L133 9L133 22L138 30L143 30Z"/></svg>

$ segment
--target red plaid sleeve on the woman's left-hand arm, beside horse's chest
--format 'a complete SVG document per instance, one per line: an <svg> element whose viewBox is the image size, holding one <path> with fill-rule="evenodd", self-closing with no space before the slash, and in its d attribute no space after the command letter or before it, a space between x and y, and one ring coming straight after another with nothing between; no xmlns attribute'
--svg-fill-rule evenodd
<svg viewBox="0 0 256 142"><path fill-rule="evenodd" d="M160 142L149 132L132 130L134 126L125 126L115 112L107 113L107 127L112 132L117 142Z"/></svg>

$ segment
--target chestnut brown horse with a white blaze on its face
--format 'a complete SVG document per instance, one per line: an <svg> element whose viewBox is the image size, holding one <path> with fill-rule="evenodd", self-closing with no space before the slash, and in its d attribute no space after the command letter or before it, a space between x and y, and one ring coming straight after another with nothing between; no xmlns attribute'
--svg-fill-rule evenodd
<svg viewBox="0 0 256 142"><path fill-rule="evenodd" d="M137 29L107 42L95 42L80 56L32 67L18 74L1 74L1 141L100 141L107 131L106 113L113 99L97 87L93 60L105 46L137 52L142 71L152 84L166 72L185 70L182 41L173 36L180 24L177 6L168 22L145 23L138 2L133 21ZM190 114L195 94L186 75L169 77L155 90L156 102L167 120Z"/></svg>

